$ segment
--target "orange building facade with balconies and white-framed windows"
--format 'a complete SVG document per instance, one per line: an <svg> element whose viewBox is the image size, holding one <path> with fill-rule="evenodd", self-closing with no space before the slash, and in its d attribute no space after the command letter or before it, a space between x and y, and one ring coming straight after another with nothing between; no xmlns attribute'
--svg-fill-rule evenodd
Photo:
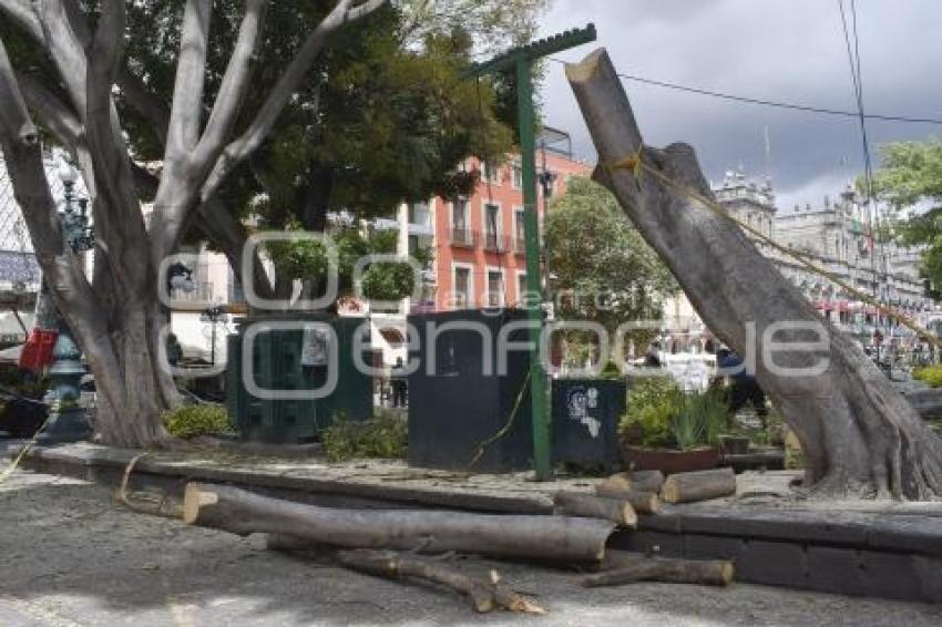
<svg viewBox="0 0 942 627"><path fill-rule="evenodd" d="M520 306L526 291L523 191L520 160L484 172L474 194L454 202L436 198L429 207L434 237L434 284L419 307L436 310ZM483 164L469 160L465 167ZM591 167L566 153L537 151L536 171L549 196L562 194L570 176L588 176ZM546 207L539 187L537 215ZM411 243L410 243L411 244Z"/></svg>

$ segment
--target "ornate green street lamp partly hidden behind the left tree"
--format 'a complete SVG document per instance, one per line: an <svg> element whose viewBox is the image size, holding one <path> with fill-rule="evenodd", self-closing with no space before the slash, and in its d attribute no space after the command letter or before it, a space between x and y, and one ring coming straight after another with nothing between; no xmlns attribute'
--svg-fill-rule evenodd
<svg viewBox="0 0 942 627"><path fill-rule="evenodd" d="M65 207L59 215L62 239L75 254L91 250L95 238L89 226L88 199L76 202L74 197L78 173L63 161L59 167L59 177L65 187ZM37 438L39 444L76 442L92 435L85 409L79 402L82 376L85 373L82 351L61 312L58 327L59 336L52 349L52 367L49 369L50 389L47 392L50 415L45 430Z"/></svg>

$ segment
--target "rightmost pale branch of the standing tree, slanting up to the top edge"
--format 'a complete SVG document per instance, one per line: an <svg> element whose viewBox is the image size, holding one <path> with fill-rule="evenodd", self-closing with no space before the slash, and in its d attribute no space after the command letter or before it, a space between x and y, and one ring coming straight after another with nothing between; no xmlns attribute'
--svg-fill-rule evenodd
<svg viewBox="0 0 942 627"><path fill-rule="evenodd" d="M237 140L229 143L219 155L203 185L202 198L212 196L235 166L262 145L330 35L344 25L370 14L385 3L386 0L369 0L356 6L352 0L341 0L337 3L304 41L249 127Z"/></svg>

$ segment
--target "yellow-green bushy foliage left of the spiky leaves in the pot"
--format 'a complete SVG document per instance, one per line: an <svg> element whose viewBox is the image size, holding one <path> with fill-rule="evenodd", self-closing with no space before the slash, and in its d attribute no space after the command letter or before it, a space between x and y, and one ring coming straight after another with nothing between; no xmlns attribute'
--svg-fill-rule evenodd
<svg viewBox="0 0 942 627"><path fill-rule="evenodd" d="M645 446L666 446L672 441L670 422L684 403L684 391L670 377L645 377L628 389L626 411L618 431L642 430Z"/></svg>

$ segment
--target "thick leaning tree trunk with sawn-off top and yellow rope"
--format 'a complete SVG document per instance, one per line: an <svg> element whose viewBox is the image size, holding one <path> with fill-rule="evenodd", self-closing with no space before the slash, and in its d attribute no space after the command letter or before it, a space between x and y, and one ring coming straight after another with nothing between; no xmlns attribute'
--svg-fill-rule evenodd
<svg viewBox="0 0 942 627"><path fill-rule="evenodd" d="M942 496L942 441L731 219L690 196L687 191L713 197L693 148L643 148L604 50L566 73L605 164L596 181L614 193L709 328L747 359L758 356L756 378L801 442L807 483L829 496ZM624 167L611 166L618 163ZM820 336L826 341L811 350L808 342ZM793 352L781 350L788 345Z"/></svg>

